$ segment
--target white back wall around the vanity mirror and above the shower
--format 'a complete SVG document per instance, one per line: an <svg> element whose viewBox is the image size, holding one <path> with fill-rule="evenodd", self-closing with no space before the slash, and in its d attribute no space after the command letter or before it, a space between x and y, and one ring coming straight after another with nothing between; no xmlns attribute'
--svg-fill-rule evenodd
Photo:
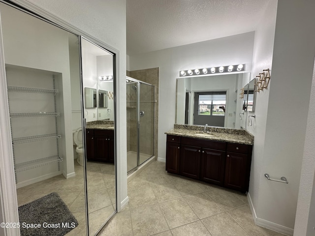
<svg viewBox="0 0 315 236"><path fill-rule="evenodd" d="M176 78L179 77L179 71L244 63L246 72L249 72L252 65L253 37L254 33L249 32L129 56L130 71L159 67L158 158L165 160L164 133L173 128L175 123Z"/></svg>

